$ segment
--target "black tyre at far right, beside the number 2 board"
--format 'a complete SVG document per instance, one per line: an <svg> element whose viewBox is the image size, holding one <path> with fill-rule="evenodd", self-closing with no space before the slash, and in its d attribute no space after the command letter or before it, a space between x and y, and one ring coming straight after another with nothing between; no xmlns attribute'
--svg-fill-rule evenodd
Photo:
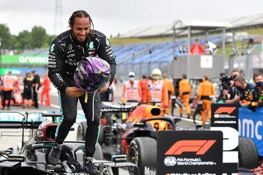
<svg viewBox="0 0 263 175"><path fill-rule="evenodd" d="M257 147L252 139L239 137L239 167L252 169L258 166Z"/></svg>

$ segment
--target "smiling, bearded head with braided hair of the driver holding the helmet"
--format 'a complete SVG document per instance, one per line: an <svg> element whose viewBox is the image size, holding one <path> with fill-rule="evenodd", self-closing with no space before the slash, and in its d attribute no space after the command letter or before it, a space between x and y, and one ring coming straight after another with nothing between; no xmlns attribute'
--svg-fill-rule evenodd
<svg viewBox="0 0 263 175"><path fill-rule="evenodd" d="M93 26L91 17L84 10L75 11L68 20L68 24L73 37L80 43L86 40L88 34L91 32L91 25Z"/></svg>

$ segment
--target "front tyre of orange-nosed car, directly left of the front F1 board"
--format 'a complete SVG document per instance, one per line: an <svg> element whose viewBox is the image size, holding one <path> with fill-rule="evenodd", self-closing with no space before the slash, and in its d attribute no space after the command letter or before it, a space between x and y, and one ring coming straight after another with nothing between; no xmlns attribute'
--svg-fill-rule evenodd
<svg viewBox="0 0 263 175"><path fill-rule="evenodd" d="M128 161L133 162L140 169L140 175L144 169L149 172L156 172L157 142L151 137L137 137L130 142L128 150ZM129 167L130 174L133 167Z"/></svg>

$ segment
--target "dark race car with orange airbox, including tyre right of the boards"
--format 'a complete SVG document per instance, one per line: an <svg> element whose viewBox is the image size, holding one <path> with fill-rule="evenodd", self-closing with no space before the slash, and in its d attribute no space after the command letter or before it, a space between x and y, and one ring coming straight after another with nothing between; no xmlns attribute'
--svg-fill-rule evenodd
<svg viewBox="0 0 263 175"><path fill-rule="evenodd" d="M103 111L128 112L130 115L126 123L121 120L114 121L112 126L104 126L107 132L112 130L111 135L104 135L104 145L102 145L105 156L116 153L125 153L128 160L133 162L140 169L140 174L156 174L157 142L159 130L185 130L176 128L176 123L181 121L169 115L164 115L160 107L153 105L140 105L134 109L131 107L104 106ZM195 130L204 130L197 125ZM249 150L249 151L248 151ZM253 167L259 165L258 153L255 144L251 139L239 138L239 169L242 174L246 172L252 174ZM251 160L251 161L250 161ZM133 172L133 168L129 169Z"/></svg>

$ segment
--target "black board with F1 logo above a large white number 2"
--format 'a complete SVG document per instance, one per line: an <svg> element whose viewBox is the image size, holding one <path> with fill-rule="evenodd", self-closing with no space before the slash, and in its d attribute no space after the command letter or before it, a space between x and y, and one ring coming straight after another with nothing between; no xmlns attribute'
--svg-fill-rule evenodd
<svg viewBox="0 0 263 175"><path fill-rule="evenodd" d="M237 174L239 162L239 106L212 104L211 130L223 132L223 174Z"/></svg>

